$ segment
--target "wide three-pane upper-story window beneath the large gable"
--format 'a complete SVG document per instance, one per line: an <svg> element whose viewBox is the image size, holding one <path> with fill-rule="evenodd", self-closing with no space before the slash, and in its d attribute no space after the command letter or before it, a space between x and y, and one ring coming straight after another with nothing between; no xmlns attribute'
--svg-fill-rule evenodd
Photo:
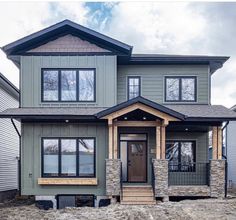
<svg viewBox="0 0 236 220"><path fill-rule="evenodd" d="M94 69L44 69L42 101L95 101Z"/></svg>

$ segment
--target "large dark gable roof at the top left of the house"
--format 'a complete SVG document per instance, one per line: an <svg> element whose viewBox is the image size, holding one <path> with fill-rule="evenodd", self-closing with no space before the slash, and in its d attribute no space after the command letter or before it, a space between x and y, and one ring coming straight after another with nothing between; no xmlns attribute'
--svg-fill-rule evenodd
<svg viewBox="0 0 236 220"><path fill-rule="evenodd" d="M74 23L70 20L64 20L48 28L30 34L4 46L2 49L7 56L19 55L29 49L45 44L66 34L79 36L80 38L84 38L98 46L101 46L102 48L114 51L118 54L130 55L132 52L132 46Z"/></svg>

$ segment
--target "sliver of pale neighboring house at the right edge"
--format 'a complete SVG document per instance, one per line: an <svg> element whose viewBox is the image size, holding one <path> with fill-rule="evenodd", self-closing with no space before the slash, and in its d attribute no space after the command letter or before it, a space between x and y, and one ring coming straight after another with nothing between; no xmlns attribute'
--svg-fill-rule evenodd
<svg viewBox="0 0 236 220"><path fill-rule="evenodd" d="M236 112L236 106L231 108ZM226 156L228 161L228 187L236 189L236 121L230 121L226 129Z"/></svg>

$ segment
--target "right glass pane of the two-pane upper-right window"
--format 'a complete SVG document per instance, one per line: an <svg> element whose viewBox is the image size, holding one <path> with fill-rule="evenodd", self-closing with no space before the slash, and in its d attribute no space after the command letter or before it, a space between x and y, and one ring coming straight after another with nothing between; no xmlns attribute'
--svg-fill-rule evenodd
<svg viewBox="0 0 236 220"><path fill-rule="evenodd" d="M182 79L182 100L194 101L195 99L195 79L183 78Z"/></svg>

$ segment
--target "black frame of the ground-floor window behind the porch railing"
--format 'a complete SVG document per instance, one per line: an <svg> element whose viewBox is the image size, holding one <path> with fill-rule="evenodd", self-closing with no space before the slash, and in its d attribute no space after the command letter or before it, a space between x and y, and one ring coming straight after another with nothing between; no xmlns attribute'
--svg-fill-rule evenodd
<svg viewBox="0 0 236 220"><path fill-rule="evenodd" d="M165 147L167 148L167 143L169 142L177 142L178 143L178 169L176 170L169 170L169 172L186 172L186 173L191 173L191 172L196 172L196 158L197 158L197 141L196 140L166 140L166 144ZM185 171L185 170L181 170L181 166L179 166L179 164L181 164L181 143L185 143L185 142L192 142L193 143L193 170L191 171ZM166 155L165 155L166 158ZM166 158L167 159L167 158Z"/></svg>

